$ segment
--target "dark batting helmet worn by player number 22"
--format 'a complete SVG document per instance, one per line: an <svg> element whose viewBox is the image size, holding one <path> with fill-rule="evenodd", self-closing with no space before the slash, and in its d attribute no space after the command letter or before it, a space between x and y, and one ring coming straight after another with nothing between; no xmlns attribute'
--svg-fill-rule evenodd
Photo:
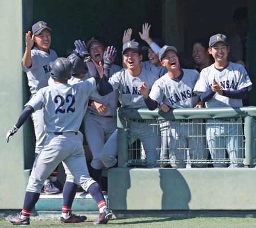
<svg viewBox="0 0 256 228"><path fill-rule="evenodd" d="M65 81L72 76L72 64L67 58L56 58L49 63L51 67L51 77L53 79Z"/></svg>

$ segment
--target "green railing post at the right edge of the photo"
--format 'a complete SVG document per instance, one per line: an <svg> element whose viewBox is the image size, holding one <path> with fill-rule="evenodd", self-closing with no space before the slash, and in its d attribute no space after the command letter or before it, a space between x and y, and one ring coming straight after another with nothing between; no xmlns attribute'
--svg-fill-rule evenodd
<svg viewBox="0 0 256 228"><path fill-rule="evenodd" d="M254 163L255 158L255 118L245 117L245 162L246 166Z"/></svg>

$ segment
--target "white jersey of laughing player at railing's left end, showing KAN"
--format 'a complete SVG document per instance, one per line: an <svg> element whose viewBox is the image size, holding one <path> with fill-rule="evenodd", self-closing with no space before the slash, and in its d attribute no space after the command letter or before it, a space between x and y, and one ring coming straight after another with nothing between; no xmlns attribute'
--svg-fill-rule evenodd
<svg viewBox="0 0 256 228"><path fill-rule="evenodd" d="M122 107L147 108L143 96L138 91L138 86L141 82L145 82L150 90L158 78L158 74L154 74L144 68L142 68L141 74L137 77L130 75L127 69L122 69L109 79L109 83L112 85L113 90L119 91L119 102Z"/></svg>

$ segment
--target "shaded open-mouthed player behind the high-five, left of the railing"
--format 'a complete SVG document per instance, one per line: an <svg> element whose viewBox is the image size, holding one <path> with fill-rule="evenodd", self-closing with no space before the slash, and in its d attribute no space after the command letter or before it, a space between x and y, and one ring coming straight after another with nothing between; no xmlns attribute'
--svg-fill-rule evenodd
<svg viewBox="0 0 256 228"><path fill-rule="evenodd" d="M112 49L110 47L106 49L101 37L92 37L87 41L86 48L96 65L102 64L104 69L109 69L110 78L122 69L121 66L113 64L115 56L111 54L116 53L115 49L113 47ZM108 54L111 53L110 56L104 56L105 50ZM91 75L95 75L93 72L92 67L90 67L86 76L90 78ZM119 92L115 90L106 96L99 96L97 99L91 97L91 103L84 117L85 137L93 156L90 163L90 175L98 183L100 183L100 180L102 181L101 186L105 191L107 191L107 187L104 187L103 183L107 183L107 181L105 172L102 172L104 164L101 162L100 154L108 138L117 129L118 96ZM96 141L97 143L95 143Z"/></svg>

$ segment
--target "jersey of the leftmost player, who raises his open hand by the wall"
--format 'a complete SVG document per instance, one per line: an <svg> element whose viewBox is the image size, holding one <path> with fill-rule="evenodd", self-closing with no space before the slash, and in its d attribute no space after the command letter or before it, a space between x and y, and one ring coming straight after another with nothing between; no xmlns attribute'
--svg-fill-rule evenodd
<svg viewBox="0 0 256 228"><path fill-rule="evenodd" d="M22 70L27 73L28 86L34 95L40 88L48 86L48 79L51 77L49 62L55 61L57 54L52 49L47 53L34 47L31 50L31 58L32 66L28 68L22 63Z"/></svg>

